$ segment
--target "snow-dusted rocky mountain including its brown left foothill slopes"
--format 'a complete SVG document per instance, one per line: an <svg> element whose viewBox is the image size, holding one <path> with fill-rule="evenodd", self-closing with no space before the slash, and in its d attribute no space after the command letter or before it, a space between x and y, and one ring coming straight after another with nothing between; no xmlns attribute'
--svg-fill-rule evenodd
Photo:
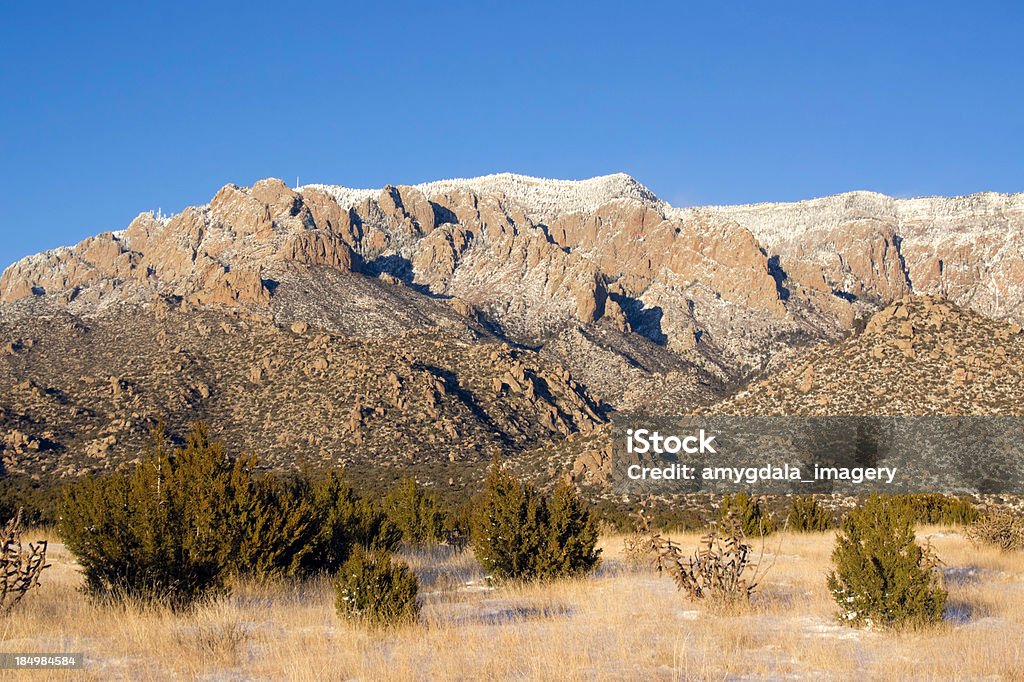
<svg viewBox="0 0 1024 682"><path fill-rule="evenodd" d="M229 184L0 276L5 466L91 470L191 419L278 464L589 442L611 411L788 377L914 295L1019 323L1022 225L1022 195L680 209L623 174Z"/></svg>

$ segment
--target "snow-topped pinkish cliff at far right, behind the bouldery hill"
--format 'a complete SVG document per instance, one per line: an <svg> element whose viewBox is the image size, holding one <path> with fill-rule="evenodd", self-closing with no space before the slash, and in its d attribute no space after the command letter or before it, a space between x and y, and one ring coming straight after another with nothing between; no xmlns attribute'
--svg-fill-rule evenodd
<svg viewBox="0 0 1024 682"><path fill-rule="evenodd" d="M939 295L1024 316L1024 195L893 199L854 191L794 204L708 207L748 228L795 281L883 303Z"/></svg>

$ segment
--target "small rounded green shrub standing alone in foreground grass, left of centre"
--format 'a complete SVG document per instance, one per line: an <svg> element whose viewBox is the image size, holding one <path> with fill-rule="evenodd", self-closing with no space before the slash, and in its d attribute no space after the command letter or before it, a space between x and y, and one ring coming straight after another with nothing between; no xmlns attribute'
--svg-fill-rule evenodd
<svg viewBox="0 0 1024 682"><path fill-rule="evenodd" d="M408 564L386 552L356 548L335 583L338 614L371 628L415 623L419 582Z"/></svg>

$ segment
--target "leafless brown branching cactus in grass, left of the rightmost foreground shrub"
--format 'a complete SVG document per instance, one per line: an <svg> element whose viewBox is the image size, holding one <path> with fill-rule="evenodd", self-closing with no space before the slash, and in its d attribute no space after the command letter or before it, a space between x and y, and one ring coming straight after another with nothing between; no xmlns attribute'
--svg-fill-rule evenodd
<svg viewBox="0 0 1024 682"><path fill-rule="evenodd" d="M755 557L735 519L726 519L705 534L696 551L689 555L680 545L651 530L642 516L640 522L658 571L667 571L676 587L692 599L717 606L750 601L771 567L762 569L764 545Z"/></svg>

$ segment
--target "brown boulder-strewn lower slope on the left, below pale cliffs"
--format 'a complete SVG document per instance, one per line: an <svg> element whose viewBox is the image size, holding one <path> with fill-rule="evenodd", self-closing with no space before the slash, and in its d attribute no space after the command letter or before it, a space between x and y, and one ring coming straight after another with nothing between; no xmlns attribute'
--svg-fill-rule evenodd
<svg viewBox="0 0 1024 682"><path fill-rule="evenodd" d="M158 424L204 420L267 465L415 463L455 484L603 421L537 352L435 328L371 339L158 304L2 321L0 340L5 473L109 469Z"/></svg>

